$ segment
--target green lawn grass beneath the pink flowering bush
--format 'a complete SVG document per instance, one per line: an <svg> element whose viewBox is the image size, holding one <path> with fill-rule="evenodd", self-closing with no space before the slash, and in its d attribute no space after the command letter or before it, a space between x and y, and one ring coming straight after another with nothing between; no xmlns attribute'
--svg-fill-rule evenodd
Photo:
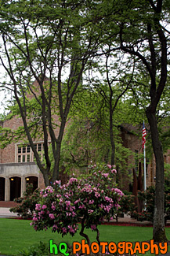
<svg viewBox="0 0 170 256"><path fill-rule="evenodd" d="M68 244L74 241L81 242L82 237L77 233L74 237L62 236L58 233L52 233L51 230L35 232L30 226L31 221L16 219L0 219L0 254L17 255L20 250L27 249L34 245L38 246L39 242L59 244L65 242ZM120 241L146 241L152 239L152 228L134 227L134 226L99 226L100 241L118 243ZM87 230L91 242L96 240L96 232ZM170 240L170 228L166 228L166 235ZM149 254L146 254L149 255Z"/></svg>

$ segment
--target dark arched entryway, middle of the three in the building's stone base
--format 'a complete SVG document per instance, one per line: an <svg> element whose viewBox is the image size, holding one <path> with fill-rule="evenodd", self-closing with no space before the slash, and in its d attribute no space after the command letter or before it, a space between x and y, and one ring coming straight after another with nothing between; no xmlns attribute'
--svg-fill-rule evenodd
<svg viewBox="0 0 170 256"><path fill-rule="evenodd" d="M20 198L21 178L13 176L10 179L10 201Z"/></svg>

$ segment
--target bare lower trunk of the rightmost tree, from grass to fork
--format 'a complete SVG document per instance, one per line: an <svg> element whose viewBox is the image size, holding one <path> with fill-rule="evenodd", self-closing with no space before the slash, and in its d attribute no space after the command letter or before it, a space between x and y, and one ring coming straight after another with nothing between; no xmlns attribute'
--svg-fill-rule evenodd
<svg viewBox="0 0 170 256"><path fill-rule="evenodd" d="M164 185L164 157L159 133L157 129L157 120L155 112L153 113L148 107L146 109L146 117L150 124L150 132L152 145L154 150L154 157L156 160L156 187L155 187L155 204L154 204L154 242L165 242L165 216L164 216L164 202L165 202L165 185Z"/></svg>

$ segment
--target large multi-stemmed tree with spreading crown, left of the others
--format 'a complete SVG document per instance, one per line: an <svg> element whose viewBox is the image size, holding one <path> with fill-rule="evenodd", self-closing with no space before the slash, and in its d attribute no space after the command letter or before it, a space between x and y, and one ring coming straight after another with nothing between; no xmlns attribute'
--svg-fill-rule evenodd
<svg viewBox="0 0 170 256"><path fill-rule="evenodd" d="M59 177L60 147L71 102L100 37L89 27L92 17L86 1L3 1L0 17L0 60L9 77L2 87L13 91L28 142L49 185L49 140L54 181ZM60 117L57 122L56 116ZM34 148L37 131L44 142L45 165Z"/></svg>

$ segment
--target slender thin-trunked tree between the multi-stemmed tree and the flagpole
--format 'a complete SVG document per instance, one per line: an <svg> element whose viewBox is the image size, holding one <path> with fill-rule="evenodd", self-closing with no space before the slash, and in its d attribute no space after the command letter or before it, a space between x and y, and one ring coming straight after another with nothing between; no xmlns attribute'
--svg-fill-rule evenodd
<svg viewBox="0 0 170 256"><path fill-rule="evenodd" d="M114 127L122 124L121 109L117 108L121 101L123 106L123 98L131 87L133 80L133 72L135 69L135 60L127 61L124 54L119 54L118 50L111 50L111 43L105 45L105 50L101 61L96 60L94 64L95 72L99 73L99 77L95 76L95 72L90 72L89 83L93 88L93 93L97 97L102 97L105 104L105 111L109 116L109 135L110 135L110 164L115 164L115 137ZM94 69L94 68L93 68ZM125 72L124 72L125 70ZM118 118L117 118L118 117Z"/></svg>

